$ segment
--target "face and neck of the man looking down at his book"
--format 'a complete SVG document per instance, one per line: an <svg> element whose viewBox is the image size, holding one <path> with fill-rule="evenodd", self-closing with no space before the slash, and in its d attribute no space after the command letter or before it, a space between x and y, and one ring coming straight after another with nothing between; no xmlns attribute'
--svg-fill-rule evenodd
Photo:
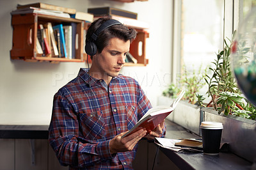
<svg viewBox="0 0 256 170"><path fill-rule="evenodd" d="M93 56L92 76L97 79L104 79L104 81L116 77L125 64L129 48L130 41L124 42L119 38L111 38L102 52Z"/></svg>

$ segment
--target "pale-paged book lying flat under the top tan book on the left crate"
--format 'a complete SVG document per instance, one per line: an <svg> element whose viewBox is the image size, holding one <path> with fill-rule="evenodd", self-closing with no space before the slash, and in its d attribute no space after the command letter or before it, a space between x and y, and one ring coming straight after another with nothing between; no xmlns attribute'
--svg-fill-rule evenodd
<svg viewBox="0 0 256 170"><path fill-rule="evenodd" d="M13 10L11 12L12 15L26 14L26 13L38 13L38 14L42 14L42 15L51 15L51 16L55 16L55 17L70 18L70 15L68 13L54 11L54 10L44 10L44 9L36 8L33 6L28 6L26 8L20 8L18 10Z"/></svg>

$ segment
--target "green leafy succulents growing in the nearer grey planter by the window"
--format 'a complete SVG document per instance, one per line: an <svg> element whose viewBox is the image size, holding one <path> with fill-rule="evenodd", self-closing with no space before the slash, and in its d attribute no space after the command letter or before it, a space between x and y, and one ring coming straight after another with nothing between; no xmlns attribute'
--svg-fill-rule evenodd
<svg viewBox="0 0 256 170"><path fill-rule="evenodd" d="M241 95L230 66L230 54L235 36L236 31L233 33L232 41L228 39L229 43L227 43L224 40L225 49L221 50L217 54L217 59L212 62L214 68L209 68L212 75L205 74L205 82L208 85L207 94L211 96L211 102L207 106L212 105L218 114L223 112L225 115L233 114L255 120L255 106Z"/></svg>

